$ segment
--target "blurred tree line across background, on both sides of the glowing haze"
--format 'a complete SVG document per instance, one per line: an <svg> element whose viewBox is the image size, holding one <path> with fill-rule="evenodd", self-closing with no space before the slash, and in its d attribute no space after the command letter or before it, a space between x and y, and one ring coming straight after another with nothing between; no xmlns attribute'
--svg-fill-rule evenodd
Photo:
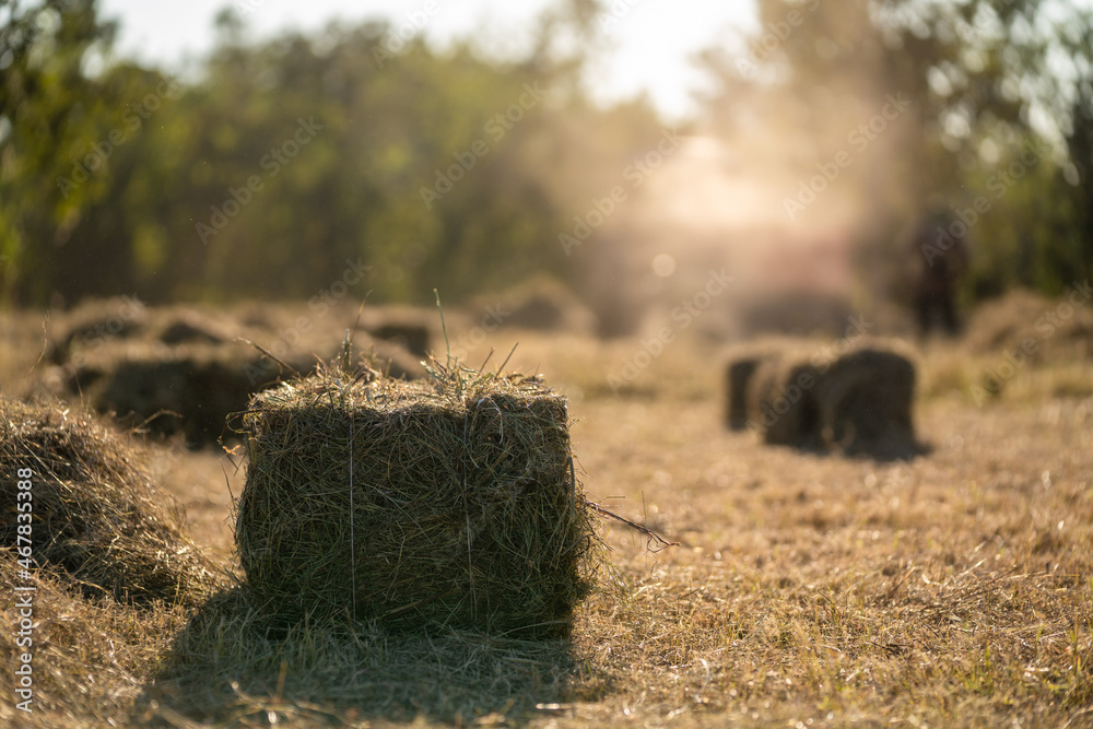
<svg viewBox="0 0 1093 729"><path fill-rule="evenodd" d="M765 127L822 166L897 91L913 124L875 164L836 171L869 201L863 266L894 260L896 231L941 192L957 212L980 197L992 209L977 214L968 296L1058 293L1090 274L1089 13L1051 0L759 10L757 32L703 55L714 83L686 130L733 144ZM359 259L361 293L379 301L427 303L438 281L459 301L543 271L579 282L559 234L667 128L642 98L589 97L584 49L608 12L560 2L521 56L496 58L385 22L254 40L225 10L178 79L117 57L96 0L0 3L0 301L307 299Z"/></svg>

